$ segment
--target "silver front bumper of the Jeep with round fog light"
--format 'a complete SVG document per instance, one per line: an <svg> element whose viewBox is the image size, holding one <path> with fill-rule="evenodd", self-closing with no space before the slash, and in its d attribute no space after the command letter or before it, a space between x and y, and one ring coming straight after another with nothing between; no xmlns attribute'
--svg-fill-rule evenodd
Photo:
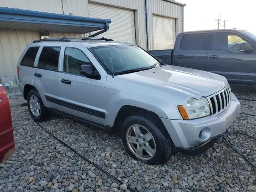
<svg viewBox="0 0 256 192"><path fill-rule="evenodd" d="M240 102L232 93L230 106L217 116L211 115L194 120L161 120L174 145L180 149L191 150L226 132L239 113Z"/></svg>

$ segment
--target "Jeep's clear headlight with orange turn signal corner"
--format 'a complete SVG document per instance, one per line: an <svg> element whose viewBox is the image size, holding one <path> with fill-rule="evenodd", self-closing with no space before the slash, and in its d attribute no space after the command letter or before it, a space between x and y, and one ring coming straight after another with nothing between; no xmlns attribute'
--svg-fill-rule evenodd
<svg viewBox="0 0 256 192"><path fill-rule="evenodd" d="M205 97L200 99L190 98L186 106L178 106L184 120L205 117L211 114L210 105Z"/></svg>

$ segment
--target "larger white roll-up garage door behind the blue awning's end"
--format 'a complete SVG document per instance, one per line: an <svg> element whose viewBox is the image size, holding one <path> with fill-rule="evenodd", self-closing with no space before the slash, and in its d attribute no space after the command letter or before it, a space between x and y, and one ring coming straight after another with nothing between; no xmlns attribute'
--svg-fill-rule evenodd
<svg viewBox="0 0 256 192"><path fill-rule="evenodd" d="M134 11L89 3L89 16L111 19L109 30L100 34L100 37L104 36L114 41L136 43Z"/></svg>

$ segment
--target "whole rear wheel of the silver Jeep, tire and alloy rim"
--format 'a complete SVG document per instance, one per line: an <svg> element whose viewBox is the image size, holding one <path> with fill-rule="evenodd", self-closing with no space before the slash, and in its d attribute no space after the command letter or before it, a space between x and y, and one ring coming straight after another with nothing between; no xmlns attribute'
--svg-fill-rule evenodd
<svg viewBox="0 0 256 192"><path fill-rule="evenodd" d="M27 102L28 111L32 118L39 122L44 121L48 116L48 112L36 89L32 89L28 92Z"/></svg>

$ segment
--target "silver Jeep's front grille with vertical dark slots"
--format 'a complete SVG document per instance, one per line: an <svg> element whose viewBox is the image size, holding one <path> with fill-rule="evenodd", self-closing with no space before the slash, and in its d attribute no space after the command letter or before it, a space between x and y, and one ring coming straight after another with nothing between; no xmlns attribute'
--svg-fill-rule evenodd
<svg viewBox="0 0 256 192"><path fill-rule="evenodd" d="M228 85L224 90L208 97L213 115L226 110L231 102L231 89Z"/></svg>

